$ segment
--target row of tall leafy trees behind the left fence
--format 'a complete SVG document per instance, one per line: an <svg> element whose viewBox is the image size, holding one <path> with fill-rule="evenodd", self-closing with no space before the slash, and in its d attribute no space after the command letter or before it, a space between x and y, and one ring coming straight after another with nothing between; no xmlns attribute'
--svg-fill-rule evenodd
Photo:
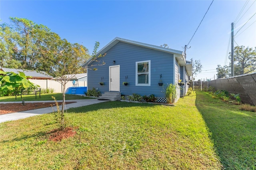
<svg viewBox="0 0 256 170"><path fill-rule="evenodd" d="M45 71L58 77L84 72L80 68L90 57L83 45L61 39L31 20L10 17L10 24L0 25L0 67Z"/></svg>

